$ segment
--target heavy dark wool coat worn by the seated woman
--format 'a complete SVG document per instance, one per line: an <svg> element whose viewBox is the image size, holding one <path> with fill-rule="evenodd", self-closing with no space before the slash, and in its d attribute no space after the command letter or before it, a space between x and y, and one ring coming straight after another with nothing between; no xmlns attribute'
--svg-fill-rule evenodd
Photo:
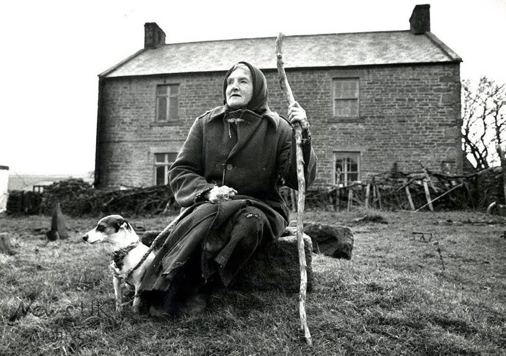
<svg viewBox="0 0 506 356"><path fill-rule="evenodd" d="M176 162L169 171L171 188L182 207L199 202L215 185L227 185L266 203L288 220L288 209L279 193L281 185L298 189L296 150L288 121L267 110L259 115L217 107L198 117ZM233 117L232 117L233 118ZM316 175L316 155L309 132L303 144L306 186Z"/></svg>

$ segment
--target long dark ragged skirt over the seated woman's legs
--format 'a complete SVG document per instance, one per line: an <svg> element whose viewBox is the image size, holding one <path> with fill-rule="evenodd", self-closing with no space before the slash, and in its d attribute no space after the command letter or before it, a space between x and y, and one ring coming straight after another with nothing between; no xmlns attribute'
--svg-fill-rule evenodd
<svg viewBox="0 0 506 356"><path fill-rule="evenodd" d="M150 304L153 295L163 295L163 307L174 312L199 286L210 281L228 286L256 249L277 239L286 224L253 199L190 207L146 271L143 299Z"/></svg>

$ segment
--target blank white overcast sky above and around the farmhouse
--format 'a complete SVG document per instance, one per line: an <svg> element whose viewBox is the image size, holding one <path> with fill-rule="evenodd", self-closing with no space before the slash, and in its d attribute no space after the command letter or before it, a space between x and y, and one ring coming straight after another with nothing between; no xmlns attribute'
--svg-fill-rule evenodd
<svg viewBox="0 0 506 356"><path fill-rule="evenodd" d="M97 75L144 46L145 22L166 43L406 30L416 4L431 5L431 32L462 57L462 78L506 83L506 0L5 2L0 165L11 174L93 171Z"/></svg>

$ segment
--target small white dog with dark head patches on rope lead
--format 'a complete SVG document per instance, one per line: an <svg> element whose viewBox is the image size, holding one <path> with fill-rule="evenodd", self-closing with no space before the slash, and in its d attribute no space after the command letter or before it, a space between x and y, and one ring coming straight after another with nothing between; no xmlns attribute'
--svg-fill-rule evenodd
<svg viewBox="0 0 506 356"><path fill-rule="evenodd" d="M125 274L138 264L149 248L140 241L139 236L128 220L120 215L109 215L100 219L97 227L83 235L82 240L89 244L112 244L114 253L109 266L113 275L116 311L122 308L123 293L121 287L126 283L135 289L133 310L138 313L141 306L141 298L138 295L141 280L155 254L151 252L144 262L125 278Z"/></svg>

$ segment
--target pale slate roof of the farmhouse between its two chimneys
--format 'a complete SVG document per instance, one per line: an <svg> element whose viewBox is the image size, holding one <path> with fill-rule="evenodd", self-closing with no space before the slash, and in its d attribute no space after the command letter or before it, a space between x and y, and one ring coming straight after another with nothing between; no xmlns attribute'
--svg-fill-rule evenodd
<svg viewBox="0 0 506 356"><path fill-rule="evenodd" d="M276 68L276 37L175 43L142 49L100 77L226 71L244 60ZM357 32L286 36L285 68L461 62L433 33Z"/></svg>

